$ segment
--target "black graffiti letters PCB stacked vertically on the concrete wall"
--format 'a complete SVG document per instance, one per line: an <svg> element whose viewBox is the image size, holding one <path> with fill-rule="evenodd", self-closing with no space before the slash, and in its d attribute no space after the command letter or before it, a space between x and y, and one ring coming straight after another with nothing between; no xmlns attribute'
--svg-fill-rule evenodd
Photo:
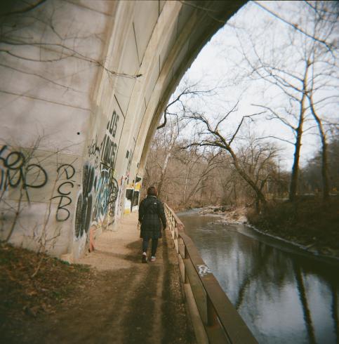
<svg viewBox="0 0 339 344"><path fill-rule="evenodd" d="M72 165L63 164L58 167L57 172L58 178L60 178L62 174L65 173L65 177L67 179L67 181L61 183L58 186L58 196L52 197L52 199L59 199L58 209L56 211L55 217L57 221L62 222L68 220L70 216L70 212L66 207L72 203L72 199L69 197L69 194L71 193L71 191L69 191L69 187L74 187L74 183L70 179L74 176L75 170Z"/></svg>

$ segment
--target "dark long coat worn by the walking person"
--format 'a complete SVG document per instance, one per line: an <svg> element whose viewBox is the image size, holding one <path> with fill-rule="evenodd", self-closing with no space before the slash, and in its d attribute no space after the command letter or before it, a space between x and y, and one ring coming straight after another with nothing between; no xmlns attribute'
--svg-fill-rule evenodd
<svg viewBox="0 0 339 344"><path fill-rule="evenodd" d="M161 223L166 227L164 205L155 196L148 195L142 199L139 206L139 221L141 223L140 237L158 239L162 237Z"/></svg>

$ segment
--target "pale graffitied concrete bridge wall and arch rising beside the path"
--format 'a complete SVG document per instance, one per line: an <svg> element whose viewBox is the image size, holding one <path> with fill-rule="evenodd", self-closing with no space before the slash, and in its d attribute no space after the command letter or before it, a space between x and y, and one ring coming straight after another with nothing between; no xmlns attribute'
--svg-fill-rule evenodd
<svg viewBox="0 0 339 344"><path fill-rule="evenodd" d="M244 1L1 8L2 239L80 256L138 204L149 143L199 50ZM204 8L204 9L201 9Z"/></svg>

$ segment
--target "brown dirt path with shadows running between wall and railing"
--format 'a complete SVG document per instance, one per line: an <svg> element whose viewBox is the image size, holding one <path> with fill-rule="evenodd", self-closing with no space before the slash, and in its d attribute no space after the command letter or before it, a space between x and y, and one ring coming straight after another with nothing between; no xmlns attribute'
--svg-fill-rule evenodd
<svg viewBox="0 0 339 344"><path fill-rule="evenodd" d="M142 264L136 216L100 236L77 262L95 268L95 280L60 312L32 322L20 343L195 343L170 234L159 240L157 261Z"/></svg>

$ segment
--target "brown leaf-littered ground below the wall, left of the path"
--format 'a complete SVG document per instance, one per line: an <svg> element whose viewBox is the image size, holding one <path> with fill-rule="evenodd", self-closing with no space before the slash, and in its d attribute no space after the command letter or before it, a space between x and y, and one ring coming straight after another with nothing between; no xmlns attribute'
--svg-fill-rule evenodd
<svg viewBox="0 0 339 344"><path fill-rule="evenodd" d="M22 316L52 314L93 276L88 267L0 243L0 317L6 324Z"/></svg>

